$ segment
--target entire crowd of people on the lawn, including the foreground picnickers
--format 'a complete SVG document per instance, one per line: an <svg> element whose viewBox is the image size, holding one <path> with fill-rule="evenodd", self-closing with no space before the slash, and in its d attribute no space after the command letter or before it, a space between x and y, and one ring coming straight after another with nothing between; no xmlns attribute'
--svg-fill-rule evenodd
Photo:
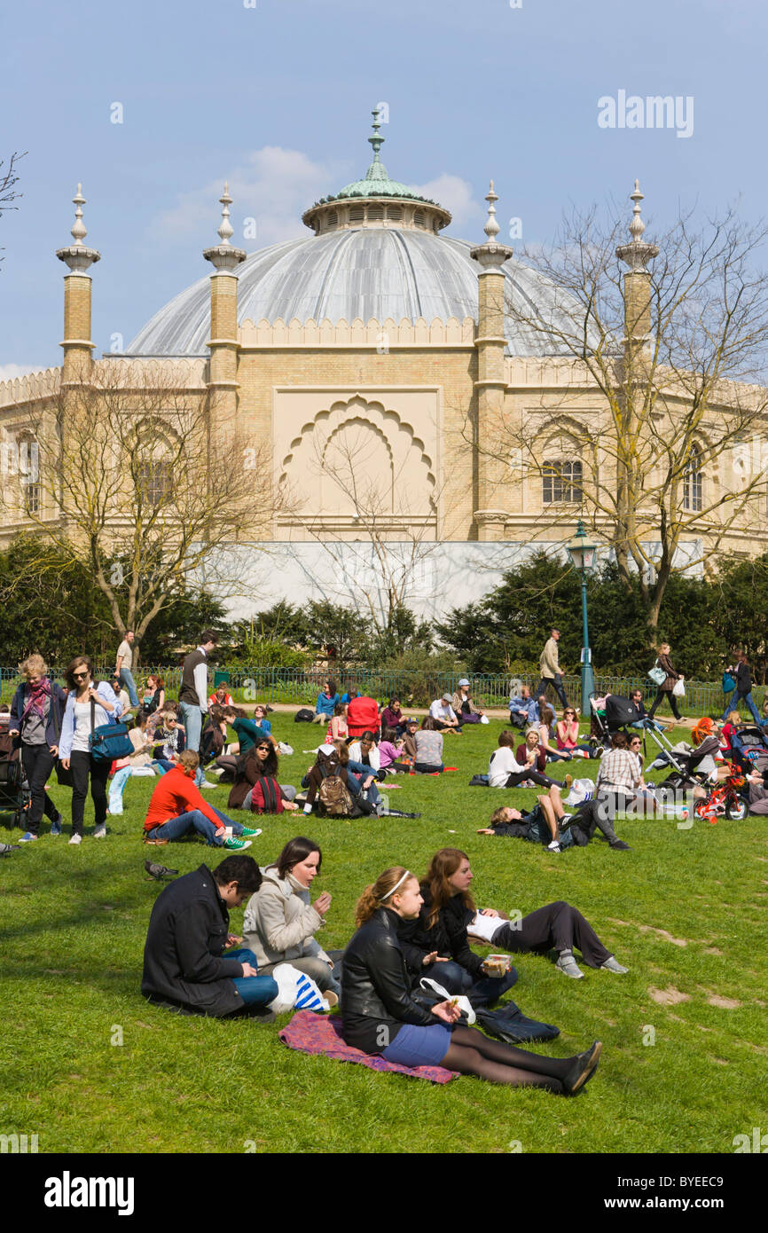
<svg viewBox="0 0 768 1233"><path fill-rule="evenodd" d="M629 851L614 822L640 804L652 813L664 808L663 793L645 778L646 737L658 748L653 766L672 768L695 801L706 804L716 785L727 783L741 792L745 811L768 814L768 735L762 743L747 745L750 725L737 709L745 702L752 719L757 714L746 656L729 670L733 690L722 720L699 720L692 745L680 748L671 746L666 725L655 719L668 699L674 720L680 720L682 674L667 644L653 670L657 693L650 711L641 689L629 699L594 698L589 731L582 734L560 674L558 637L552 630L535 697L525 686L510 693L510 726L498 735L487 773L472 780L492 789L539 789L536 800L526 810L493 809L477 835L521 838L561 853L600 834L611 850ZM388 793L401 787L401 776L455 772L445 764L445 742L452 747L451 737L461 737L467 725L488 724L466 677L455 692L435 698L424 716L404 714L397 697L380 705L357 689L339 694L329 678L314 709L296 716L321 725L321 732L325 727L322 743L306 751L312 761L295 785L281 773L281 760L293 750L272 734L270 708L240 705L227 684L210 692L213 631L205 630L185 657L178 699L168 695L157 674L137 689L132 644L126 635L111 679L96 681L92 661L75 656L64 674L65 688L48 674L41 656L30 656L20 666L23 679L7 714L7 735L20 750L28 792L25 842L37 840L43 816L52 835L62 834L62 814L47 792L53 773L71 788L71 845L83 841L89 789L94 837L105 838L107 817L123 811L129 779L152 777L157 783L143 820L147 845L159 848L201 837L235 853L213 869L201 864L158 896L142 981L150 1001L184 1014L245 1015L261 1022L286 1007L338 1006L345 1043L396 1065L444 1067L558 1095L583 1088L597 1068L599 1042L563 1059L530 1053L510 1039L546 1039L557 1030L526 1020L509 1002L504 1006L519 1016L518 1034L503 1009L494 1011L498 1020L482 1020L494 1038L472 1026L476 1015L497 1006L517 981L510 954L555 952L556 969L572 980L584 975L574 951L587 968L626 973L571 904L560 900L514 920L498 909L478 910L470 857L446 847L433 856L423 877L394 864L365 887L356 932L343 952L329 952L317 935L330 914L332 895L324 890L312 899L322 870L319 845L297 835L261 868L243 854L263 834L247 824L265 815L419 817L391 809ZM562 704L560 714L547 700L550 689ZM768 715L768 704L764 710ZM597 763L594 780L577 780L573 771L560 778L565 768L556 777L549 773L560 762L582 761ZM571 806L577 783L581 790ZM226 811L203 795L224 784ZM154 868L161 875L163 867ZM229 933L229 909L239 905L245 907L243 936L235 937ZM472 943L499 953L480 954Z"/></svg>

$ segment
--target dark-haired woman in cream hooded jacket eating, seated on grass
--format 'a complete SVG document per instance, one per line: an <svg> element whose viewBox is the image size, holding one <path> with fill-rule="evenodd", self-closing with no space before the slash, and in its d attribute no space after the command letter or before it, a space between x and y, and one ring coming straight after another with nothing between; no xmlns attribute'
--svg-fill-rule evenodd
<svg viewBox="0 0 768 1233"><path fill-rule="evenodd" d="M323 891L309 903L309 887L322 859L317 843L304 836L286 843L276 863L261 870L261 885L248 901L243 944L256 956L260 975L270 975L279 963L290 963L311 977L323 996L332 993L338 999L333 961L314 937L325 924L330 895Z"/></svg>

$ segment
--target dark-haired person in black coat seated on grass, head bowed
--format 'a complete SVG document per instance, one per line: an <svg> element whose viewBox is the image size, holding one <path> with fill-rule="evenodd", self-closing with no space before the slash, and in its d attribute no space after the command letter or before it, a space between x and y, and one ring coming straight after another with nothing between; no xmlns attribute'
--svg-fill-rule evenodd
<svg viewBox="0 0 768 1233"><path fill-rule="evenodd" d="M258 974L253 951L223 956L227 947L243 941L229 932L228 909L239 907L260 885L261 870L249 856L227 857L213 873L201 864L168 885L149 917L144 996L160 1006L217 1018L272 1001L277 985Z"/></svg>

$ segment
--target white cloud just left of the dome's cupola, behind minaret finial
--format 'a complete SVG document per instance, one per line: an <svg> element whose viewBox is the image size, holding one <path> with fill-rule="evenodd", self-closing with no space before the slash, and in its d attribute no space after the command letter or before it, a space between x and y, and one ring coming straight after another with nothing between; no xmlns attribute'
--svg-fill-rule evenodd
<svg viewBox="0 0 768 1233"><path fill-rule="evenodd" d="M301 221L304 210L318 197L327 196L344 182L338 166L313 163L301 150L265 145L248 154L240 166L228 175L233 205L229 221L234 228L232 243L247 252L276 244L284 239L308 236ZM218 243L216 229L221 222L223 180L211 180L202 189L180 194L176 206L164 211L150 224L154 236L164 240L189 244L192 239ZM255 219L245 232L245 219Z"/></svg>

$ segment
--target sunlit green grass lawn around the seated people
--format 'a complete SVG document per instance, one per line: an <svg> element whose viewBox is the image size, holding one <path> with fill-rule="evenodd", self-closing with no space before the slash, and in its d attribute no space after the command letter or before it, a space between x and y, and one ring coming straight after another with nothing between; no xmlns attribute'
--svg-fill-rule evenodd
<svg viewBox="0 0 768 1233"><path fill-rule="evenodd" d="M319 730L272 716L295 745L281 778L297 783ZM476 829L499 803L528 805L534 792L468 788L487 768L502 724L446 737L459 769L441 778L398 777L393 808L406 819L263 820L251 854L274 859L292 835L323 848L313 888L333 894L323 944L353 932L355 900L383 868L422 873L431 853L470 853L481 906L530 911L555 899L579 907L626 977L586 969L562 977L551 958L521 956L512 991L523 1011L557 1023L537 1051L566 1055L603 1041L595 1079L577 1100L505 1090L471 1078L444 1088L285 1048L280 1027L178 1017L139 994L147 921L160 887L147 853L181 873L218 862L202 841L154 850L141 843L153 782L126 787L108 838L68 846L69 827L0 863L5 1025L0 1133L37 1133L41 1152L715 1152L764 1122L768 1033L764 990L768 841L766 821L618 824L631 852L593 841L560 856ZM594 776L595 763L577 762ZM560 778L567 769L557 763ZM69 817L69 793L53 799ZM208 794L226 809L228 789ZM90 806L89 806L90 808ZM89 822L90 816L90 822ZM1 830L4 840L18 838ZM318 889L319 888L319 889ZM232 915L235 932L242 910ZM678 999L660 1002L656 999ZM651 1039L655 1043L645 1043ZM112 1043L122 1041L122 1043Z"/></svg>

